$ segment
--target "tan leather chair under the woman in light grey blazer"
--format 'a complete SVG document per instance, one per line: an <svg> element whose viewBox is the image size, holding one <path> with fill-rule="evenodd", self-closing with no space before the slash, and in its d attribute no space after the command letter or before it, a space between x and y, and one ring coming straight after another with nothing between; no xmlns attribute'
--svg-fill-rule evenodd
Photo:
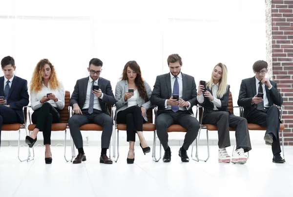
<svg viewBox="0 0 293 197"><path fill-rule="evenodd" d="M147 116L147 122L143 124L143 131L155 131L156 126L153 124L153 114L152 109L149 108L146 111ZM116 130L117 130L117 138L116 138ZM116 158L116 140L117 140L117 158L115 159L115 162L117 162L119 158L119 131L126 131L126 124L117 124L116 123L116 117L115 117L115 131L114 131L114 158Z"/></svg>

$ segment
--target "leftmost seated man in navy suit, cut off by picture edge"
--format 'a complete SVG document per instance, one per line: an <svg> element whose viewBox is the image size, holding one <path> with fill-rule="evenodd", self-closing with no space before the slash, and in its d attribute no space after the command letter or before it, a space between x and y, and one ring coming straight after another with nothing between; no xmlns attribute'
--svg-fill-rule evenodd
<svg viewBox="0 0 293 197"><path fill-rule="evenodd" d="M24 123L22 107L29 103L27 81L14 75L14 59L3 58L1 67L4 76L0 77L0 145L2 124Z"/></svg>

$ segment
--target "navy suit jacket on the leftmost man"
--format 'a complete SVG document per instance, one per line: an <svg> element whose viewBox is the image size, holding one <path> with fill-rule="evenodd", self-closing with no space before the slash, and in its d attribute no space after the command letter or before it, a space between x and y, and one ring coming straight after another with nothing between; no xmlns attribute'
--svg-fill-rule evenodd
<svg viewBox="0 0 293 197"><path fill-rule="evenodd" d="M0 77L0 96L4 97L4 76ZM11 109L15 110L21 123L24 123L22 107L27 106L28 103L27 80L14 76L7 98L7 104L10 105Z"/></svg>

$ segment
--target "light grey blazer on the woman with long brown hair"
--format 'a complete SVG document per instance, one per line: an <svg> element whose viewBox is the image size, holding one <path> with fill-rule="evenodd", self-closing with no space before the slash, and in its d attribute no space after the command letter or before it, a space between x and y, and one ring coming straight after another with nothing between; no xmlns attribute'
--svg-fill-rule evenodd
<svg viewBox="0 0 293 197"><path fill-rule="evenodd" d="M150 99L151 96L151 89L150 86L148 85L148 83L145 81L145 89L146 89L146 94L147 94L147 98ZM118 81L116 84L116 88L115 88L115 98L116 98L116 114L122 110L125 110L127 108L127 101L124 101L124 94L128 91L128 82L127 80L121 80ZM150 101L145 101L145 99L138 97L137 99L137 105L138 106L143 106L144 108L146 108L146 111L151 108L151 103ZM147 121L146 115L145 115L145 120Z"/></svg>

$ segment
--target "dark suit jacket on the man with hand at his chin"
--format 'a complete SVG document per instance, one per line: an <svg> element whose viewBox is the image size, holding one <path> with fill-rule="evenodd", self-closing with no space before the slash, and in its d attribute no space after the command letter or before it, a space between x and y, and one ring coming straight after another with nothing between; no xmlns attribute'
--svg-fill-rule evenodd
<svg viewBox="0 0 293 197"><path fill-rule="evenodd" d="M269 90L268 86L266 88L267 98L269 100L269 105L282 105L283 98L281 94L277 90L277 83L270 80L272 84L272 89ZM237 104L244 108L244 118L257 110L256 104L251 104L252 97L256 95L256 85L255 85L255 77L243 79L240 85L239 97Z"/></svg>

